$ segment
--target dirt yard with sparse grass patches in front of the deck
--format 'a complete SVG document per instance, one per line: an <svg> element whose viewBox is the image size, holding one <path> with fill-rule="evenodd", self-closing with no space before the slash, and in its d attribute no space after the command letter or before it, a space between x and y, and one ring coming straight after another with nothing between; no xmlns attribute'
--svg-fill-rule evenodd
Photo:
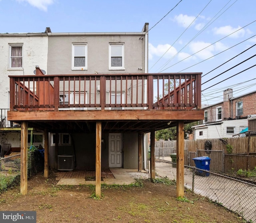
<svg viewBox="0 0 256 223"><path fill-rule="evenodd" d="M15 187L0 194L1 211L36 211L38 223L241 223L240 217L205 197L185 192L176 199L175 185L142 180L140 187L56 186L54 173L28 180L28 194Z"/></svg>

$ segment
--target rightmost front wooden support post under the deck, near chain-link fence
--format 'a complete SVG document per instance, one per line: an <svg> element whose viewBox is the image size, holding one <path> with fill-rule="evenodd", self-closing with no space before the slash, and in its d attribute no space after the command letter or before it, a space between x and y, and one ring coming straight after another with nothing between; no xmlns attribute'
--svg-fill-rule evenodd
<svg viewBox="0 0 256 223"><path fill-rule="evenodd" d="M177 172L176 172L176 197L184 196L184 121L177 125Z"/></svg>

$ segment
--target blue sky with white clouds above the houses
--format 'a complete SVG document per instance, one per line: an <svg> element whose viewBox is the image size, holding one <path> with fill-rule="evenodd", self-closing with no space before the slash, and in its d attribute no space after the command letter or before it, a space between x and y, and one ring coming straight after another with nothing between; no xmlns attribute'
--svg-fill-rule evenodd
<svg viewBox="0 0 256 223"><path fill-rule="evenodd" d="M212 105L228 88L234 97L256 91L255 8L254 0L0 0L0 33L141 32L148 22L148 72L202 72L202 105Z"/></svg>

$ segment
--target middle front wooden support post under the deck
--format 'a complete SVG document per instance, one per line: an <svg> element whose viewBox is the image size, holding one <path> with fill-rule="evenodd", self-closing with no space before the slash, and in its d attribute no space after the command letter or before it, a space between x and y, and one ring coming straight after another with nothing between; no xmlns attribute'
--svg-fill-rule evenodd
<svg viewBox="0 0 256 223"><path fill-rule="evenodd" d="M100 178L101 178L101 122L96 122L96 187L95 194L101 197Z"/></svg>

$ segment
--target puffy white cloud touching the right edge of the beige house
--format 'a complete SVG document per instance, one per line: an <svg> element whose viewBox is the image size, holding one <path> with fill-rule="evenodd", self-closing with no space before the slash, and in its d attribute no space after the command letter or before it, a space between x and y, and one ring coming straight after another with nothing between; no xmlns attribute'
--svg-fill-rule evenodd
<svg viewBox="0 0 256 223"><path fill-rule="evenodd" d="M165 53L165 54L164 54ZM157 47L154 47L151 43L148 43L148 59L153 59L153 56L165 57L170 59L177 53L177 50L174 47L171 47L170 44L159 44Z"/></svg>

